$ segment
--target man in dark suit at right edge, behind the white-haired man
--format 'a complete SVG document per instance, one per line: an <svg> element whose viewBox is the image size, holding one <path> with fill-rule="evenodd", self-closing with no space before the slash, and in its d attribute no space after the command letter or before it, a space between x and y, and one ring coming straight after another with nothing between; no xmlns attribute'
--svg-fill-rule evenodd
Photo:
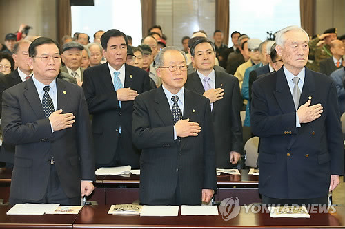
<svg viewBox="0 0 345 229"><path fill-rule="evenodd" d="M345 47L340 40L331 41L331 53L330 58L326 58L320 62L320 72L331 76L331 73L335 70L343 67L342 61L345 54Z"/></svg>

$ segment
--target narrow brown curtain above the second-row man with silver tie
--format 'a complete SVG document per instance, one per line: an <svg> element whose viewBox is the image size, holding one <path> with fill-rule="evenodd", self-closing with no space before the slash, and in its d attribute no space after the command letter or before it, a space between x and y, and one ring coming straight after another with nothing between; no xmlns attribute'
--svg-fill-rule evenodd
<svg viewBox="0 0 345 229"><path fill-rule="evenodd" d="M223 43L229 42L229 0L216 0L215 29L224 34Z"/></svg>

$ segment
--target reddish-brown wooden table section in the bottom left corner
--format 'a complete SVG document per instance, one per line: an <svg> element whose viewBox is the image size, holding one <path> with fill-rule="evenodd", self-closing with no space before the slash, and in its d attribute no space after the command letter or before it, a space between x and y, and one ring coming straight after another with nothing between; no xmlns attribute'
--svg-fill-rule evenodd
<svg viewBox="0 0 345 229"><path fill-rule="evenodd" d="M72 228L77 215L6 215L12 206L0 206L0 228Z"/></svg>

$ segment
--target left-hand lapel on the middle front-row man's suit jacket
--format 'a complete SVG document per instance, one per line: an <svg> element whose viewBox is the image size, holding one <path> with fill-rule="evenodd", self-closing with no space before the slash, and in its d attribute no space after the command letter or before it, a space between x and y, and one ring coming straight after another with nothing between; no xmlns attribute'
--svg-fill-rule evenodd
<svg viewBox="0 0 345 229"><path fill-rule="evenodd" d="M163 87L159 87L158 89L156 89L155 102L155 110L157 111L157 114L164 125L174 125L170 105L168 104L168 100L166 99L166 94L164 94Z"/></svg>

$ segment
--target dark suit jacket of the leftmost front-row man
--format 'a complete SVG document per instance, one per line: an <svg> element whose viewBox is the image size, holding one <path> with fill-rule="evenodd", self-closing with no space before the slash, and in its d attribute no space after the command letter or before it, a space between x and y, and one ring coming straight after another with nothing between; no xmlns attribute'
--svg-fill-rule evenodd
<svg viewBox="0 0 345 229"><path fill-rule="evenodd" d="M88 106L81 87L57 79L57 109L73 113L75 123L52 133L32 78L3 92L3 137L16 146L10 198L42 199L51 157L69 198L81 195L81 180L95 179Z"/></svg>

